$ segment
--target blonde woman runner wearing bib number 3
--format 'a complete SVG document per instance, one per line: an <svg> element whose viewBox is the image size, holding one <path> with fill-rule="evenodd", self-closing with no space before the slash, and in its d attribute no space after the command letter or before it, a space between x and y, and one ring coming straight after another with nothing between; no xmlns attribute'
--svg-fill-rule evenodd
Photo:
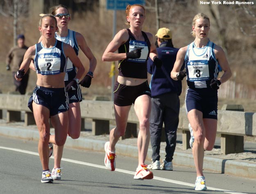
<svg viewBox="0 0 256 194"><path fill-rule="evenodd" d="M204 13L195 15L194 42L179 49L171 72L174 80L187 75L186 111L191 132L197 179L195 190L206 190L203 174L204 150L212 150L217 132L217 89L231 77L231 69L223 49L208 39L210 20ZM185 62L186 73L180 71ZM224 74L218 78L218 65Z"/></svg>

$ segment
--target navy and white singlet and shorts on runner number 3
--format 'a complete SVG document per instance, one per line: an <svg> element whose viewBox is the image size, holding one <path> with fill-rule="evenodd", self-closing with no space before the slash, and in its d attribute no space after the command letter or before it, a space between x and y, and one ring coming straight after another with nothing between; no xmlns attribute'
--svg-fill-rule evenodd
<svg viewBox="0 0 256 194"><path fill-rule="evenodd" d="M212 79L218 77L218 61L214 54L215 44L208 41L206 47L188 45L185 56L188 89L185 98L186 112L197 109L203 118L217 119L217 90L210 87Z"/></svg>

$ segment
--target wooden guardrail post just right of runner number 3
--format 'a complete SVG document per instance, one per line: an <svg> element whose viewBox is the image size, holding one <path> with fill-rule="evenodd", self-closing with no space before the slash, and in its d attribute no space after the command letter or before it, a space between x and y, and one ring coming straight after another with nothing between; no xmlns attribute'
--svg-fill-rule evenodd
<svg viewBox="0 0 256 194"><path fill-rule="evenodd" d="M223 105L222 110L244 111L242 105ZM244 136L221 134L220 148L222 154L244 152Z"/></svg>

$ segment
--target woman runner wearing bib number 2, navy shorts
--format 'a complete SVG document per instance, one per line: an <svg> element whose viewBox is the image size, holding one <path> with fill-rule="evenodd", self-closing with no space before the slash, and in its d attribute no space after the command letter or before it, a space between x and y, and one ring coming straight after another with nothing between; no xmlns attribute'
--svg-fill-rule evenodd
<svg viewBox="0 0 256 194"><path fill-rule="evenodd" d="M52 14L45 14L39 21L41 41L29 47L24 55L20 69L16 73L16 80L24 78L30 63L34 61L36 70L36 88L29 98L28 107L34 114L39 131L38 152L42 172L42 183L52 183L49 168L48 143L63 146L68 134L68 92L76 85L70 82L65 86L66 62L68 58L77 68L74 79L81 79L84 66L75 54L74 49L55 38L58 30L57 20ZM50 139L50 123L54 127L54 139Z"/></svg>

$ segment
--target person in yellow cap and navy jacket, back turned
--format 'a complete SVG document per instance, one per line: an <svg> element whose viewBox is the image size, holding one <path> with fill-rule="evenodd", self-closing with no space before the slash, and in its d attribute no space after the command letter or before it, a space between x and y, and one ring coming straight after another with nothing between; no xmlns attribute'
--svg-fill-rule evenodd
<svg viewBox="0 0 256 194"><path fill-rule="evenodd" d="M147 61L147 71L152 74L150 81L152 110L150 116L150 142L152 146L152 163L149 169L172 170L172 159L176 147L177 128L179 124L179 95L181 81L170 77L179 49L172 45L172 33L168 28L157 31L157 53L162 60L161 68L156 68L152 60ZM184 67L183 67L184 68ZM165 128L165 160L160 165L161 132Z"/></svg>

